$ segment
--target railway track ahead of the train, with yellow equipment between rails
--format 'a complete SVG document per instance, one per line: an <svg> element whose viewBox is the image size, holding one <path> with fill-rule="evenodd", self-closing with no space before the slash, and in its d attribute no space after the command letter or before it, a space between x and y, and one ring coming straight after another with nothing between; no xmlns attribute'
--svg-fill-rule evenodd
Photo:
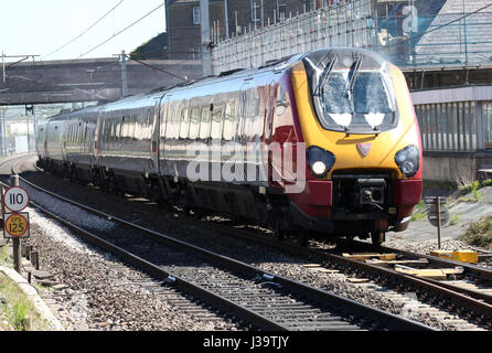
<svg viewBox="0 0 492 353"><path fill-rule="evenodd" d="M227 226L208 223L224 233ZM340 239L330 249L306 248L296 242L277 242L250 231L235 229L235 237L254 239L285 254L309 258L320 268L349 271L360 278L371 279L385 288L414 291L419 299L449 312L457 312L478 324L492 328L492 270L472 264L448 260L430 255L416 254L389 247ZM383 260L382 260L383 259ZM437 270L446 278L432 279L411 275L402 269ZM447 272L447 270L450 270Z"/></svg>

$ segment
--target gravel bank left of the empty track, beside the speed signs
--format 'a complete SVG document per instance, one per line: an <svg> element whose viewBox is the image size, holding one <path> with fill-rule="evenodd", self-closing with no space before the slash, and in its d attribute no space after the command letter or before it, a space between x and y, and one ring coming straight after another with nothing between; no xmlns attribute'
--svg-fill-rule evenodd
<svg viewBox="0 0 492 353"><path fill-rule="evenodd" d="M221 319L204 321L183 312L172 302L193 303L173 289L150 290L152 279L145 274L85 244L38 211L29 212L29 243L41 254L41 269L66 285L42 289L42 295L67 330L237 330Z"/></svg>

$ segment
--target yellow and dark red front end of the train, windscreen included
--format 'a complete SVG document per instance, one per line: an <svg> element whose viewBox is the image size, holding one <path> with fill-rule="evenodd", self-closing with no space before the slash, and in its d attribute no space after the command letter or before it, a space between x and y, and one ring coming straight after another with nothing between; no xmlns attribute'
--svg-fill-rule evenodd
<svg viewBox="0 0 492 353"><path fill-rule="evenodd" d="M402 72L365 50L307 54L292 68L307 186L289 197L304 228L372 237L406 229L423 148Z"/></svg>

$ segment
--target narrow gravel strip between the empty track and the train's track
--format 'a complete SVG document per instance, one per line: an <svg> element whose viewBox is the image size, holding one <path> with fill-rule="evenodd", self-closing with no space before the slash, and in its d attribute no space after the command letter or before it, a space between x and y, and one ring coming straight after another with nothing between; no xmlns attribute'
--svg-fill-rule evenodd
<svg viewBox="0 0 492 353"><path fill-rule="evenodd" d="M266 271L295 278L313 287L411 318L438 329L479 329L477 325L467 322L467 320L418 301L414 293L402 295L374 282L353 284L350 281L350 278L354 277L353 274L327 274L304 267L303 265L307 265L309 260L286 256L278 252L266 249L264 246L240 239L232 239L213 231L190 226L185 224L188 217L183 217L178 212L159 211L153 206L146 206L145 202L136 199L127 199L126 202L122 202L120 196L101 193L100 191L89 192L87 188L62 181L58 178L46 178L39 173L29 175L29 179L67 197L83 200L84 204L95 208L110 208L108 213L132 220L142 225L145 224L159 232L171 233L174 237L226 254L229 257L260 267Z"/></svg>

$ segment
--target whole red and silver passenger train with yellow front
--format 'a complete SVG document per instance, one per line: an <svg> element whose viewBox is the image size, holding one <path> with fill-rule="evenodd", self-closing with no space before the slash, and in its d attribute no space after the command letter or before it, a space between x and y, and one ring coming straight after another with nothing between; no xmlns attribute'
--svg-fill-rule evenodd
<svg viewBox="0 0 492 353"><path fill-rule="evenodd" d="M423 148L402 72L323 49L55 116L39 163L107 190L306 238L379 244L420 201ZM253 158L252 158L253 156Z"/></svg>

